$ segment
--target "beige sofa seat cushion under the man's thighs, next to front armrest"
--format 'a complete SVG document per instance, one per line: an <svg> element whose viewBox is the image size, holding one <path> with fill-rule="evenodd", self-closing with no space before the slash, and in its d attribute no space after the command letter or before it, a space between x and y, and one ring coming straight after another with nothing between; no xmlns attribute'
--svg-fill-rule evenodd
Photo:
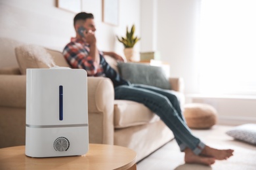
<svg viewBox="0 0 256 170"><path fill-rule="evenodd" d="M114 127L123 128L160 120L150 109L135 101L114 101Z"/></svg>

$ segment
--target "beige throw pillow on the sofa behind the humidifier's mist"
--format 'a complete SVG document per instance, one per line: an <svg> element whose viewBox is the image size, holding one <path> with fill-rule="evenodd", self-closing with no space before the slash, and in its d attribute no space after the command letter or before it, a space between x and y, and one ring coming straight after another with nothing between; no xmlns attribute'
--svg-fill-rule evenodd
<svg viewBox="0 0 256 170"><path fill-rule="evenodd" d="M52 56L41 46L18 46L15 48L15 54L22 75L26 75L28 68L49 68L55 65Z"/></svg>

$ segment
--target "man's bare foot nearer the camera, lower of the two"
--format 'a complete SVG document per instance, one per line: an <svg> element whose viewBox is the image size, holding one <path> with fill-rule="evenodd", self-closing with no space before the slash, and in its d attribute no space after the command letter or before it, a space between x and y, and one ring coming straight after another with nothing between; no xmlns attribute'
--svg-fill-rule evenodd
<svg viewBox="0 0 256 170"><path fill-rule="evenodd" d="M215 158L210 158L210 157L204 157L204 156L198 156L190 150L190 148L186 148L184 150L185 153L185 163L200 163L203 165L212 165L215 163Z"/></svg>

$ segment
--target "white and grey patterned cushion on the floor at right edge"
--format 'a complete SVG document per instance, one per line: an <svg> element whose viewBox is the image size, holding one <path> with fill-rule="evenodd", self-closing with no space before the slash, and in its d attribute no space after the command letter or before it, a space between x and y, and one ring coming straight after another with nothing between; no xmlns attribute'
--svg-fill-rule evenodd
<svg viewBox="0 0 256 170"><path fill-rule="evenodd" d="M256 144L256 124L244 124L226 131L227 135L247 143Z"/></svg>

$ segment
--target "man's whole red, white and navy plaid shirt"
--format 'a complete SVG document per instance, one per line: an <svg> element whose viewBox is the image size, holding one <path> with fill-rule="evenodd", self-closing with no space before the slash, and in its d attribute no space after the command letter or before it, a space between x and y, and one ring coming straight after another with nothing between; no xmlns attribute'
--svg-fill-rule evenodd
<svg viewBox="0 0 256 170"><path fill-rule="evenodd" d="M103 53L98 51L103 57ZM89 56L90 48L81 39L71 38L64 50L63 55L73 69L85 69L88 76L106 76L102 65L95 66L93 58Z"/></svg>

